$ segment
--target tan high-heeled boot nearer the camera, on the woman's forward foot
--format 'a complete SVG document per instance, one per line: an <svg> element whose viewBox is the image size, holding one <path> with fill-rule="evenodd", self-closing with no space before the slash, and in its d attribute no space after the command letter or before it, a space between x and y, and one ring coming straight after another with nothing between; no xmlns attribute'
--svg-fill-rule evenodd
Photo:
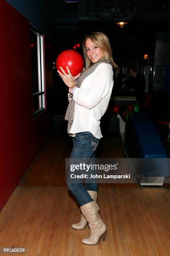
<svg viewBox="0 0 170 256"><path fill-rule="evenodd" d="M106 225L100 218L98 213L99 207L96 201L92 201L80 207L82 214L85 216L90 227L90 237L82 240L82 243L88 245L95 245L98 243L100 237L105 241Z"/></svg>

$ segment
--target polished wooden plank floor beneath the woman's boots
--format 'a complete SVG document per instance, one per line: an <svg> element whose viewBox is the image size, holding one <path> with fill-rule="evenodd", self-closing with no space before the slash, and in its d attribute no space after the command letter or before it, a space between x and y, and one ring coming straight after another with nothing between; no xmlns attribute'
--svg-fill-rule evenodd
<svg viewBox="0 0 170 256"><path fill-rule="evenodd" d="M24 247L28 256L170 256L169 187L100 185L106 240L95 246L81 243L90 230L70 227L80 219L80 208L65 184L65 158L71 148L67 138L45 142L0 212L0 248ZM125 157L119 138L103 139L97 154Z"/></svg>

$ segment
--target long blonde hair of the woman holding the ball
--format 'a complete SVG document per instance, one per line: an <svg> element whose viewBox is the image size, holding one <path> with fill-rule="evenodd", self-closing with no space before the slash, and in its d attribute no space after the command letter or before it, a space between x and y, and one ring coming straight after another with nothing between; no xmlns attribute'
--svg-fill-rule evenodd
<svg viewBox="0 0 170 256"><path fill-rule="evenodd" d="M90 61L90 59L87 57L87 52L85 49L85 41L87 40L87 38L90 38L90 40L98 47L100 48L100 50L102 50L103 54L104 54L104 59L103 60L107 60L112 67L117 68L117 64L115 64L113 57L112 57L112 49L110 46L110 42L109 42L109 38L102 32L92 32L90 34L87 34L84 38L84 40L82 41L82 50L83 50L83 54L84 54L84 58L85 58L85 67L86 69L88 69L89 67L92 66L92 62Z"/></svg>

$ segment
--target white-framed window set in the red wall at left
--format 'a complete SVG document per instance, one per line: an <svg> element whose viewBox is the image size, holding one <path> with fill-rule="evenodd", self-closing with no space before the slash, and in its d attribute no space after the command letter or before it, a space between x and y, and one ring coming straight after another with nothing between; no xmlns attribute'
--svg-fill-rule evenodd
<svg viewBox="0 0 170 256"><path fill-rule="evenodd" d="M32 102L34 117L45 110L45 79L44 79L44 50L43 36L31 26L31 75Z"/></svg>

